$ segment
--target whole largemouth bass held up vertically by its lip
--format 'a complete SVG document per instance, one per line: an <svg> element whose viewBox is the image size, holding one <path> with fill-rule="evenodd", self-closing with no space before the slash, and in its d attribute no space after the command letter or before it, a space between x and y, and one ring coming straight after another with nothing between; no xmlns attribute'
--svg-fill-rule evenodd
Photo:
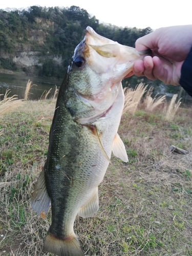
<svg viewBox="0 0 192 256"><path fill-rule="evenodd" d="M61 83L49 136L48 156L35 184L31 207L42 218L51 203L44 251L83 256L73 230L77 215L99 209L98 186L111 154L127 162L118 135L124 105L121 80L148 51L118 44L87 27Z"/></svg>

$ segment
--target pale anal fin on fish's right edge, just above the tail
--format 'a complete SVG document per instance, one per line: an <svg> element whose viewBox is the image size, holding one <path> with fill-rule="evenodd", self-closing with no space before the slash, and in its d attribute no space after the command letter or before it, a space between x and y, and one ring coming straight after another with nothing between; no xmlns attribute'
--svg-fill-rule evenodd
<svg viewBox="0 0 192 256"><path fill-rule="evenodd" d="M88 218L94 215L99 209L99 195L98 195L98 187L95 190L92 198L87 202L87 204L83 205L79 211L79 216L82 218Z"/></svg>

